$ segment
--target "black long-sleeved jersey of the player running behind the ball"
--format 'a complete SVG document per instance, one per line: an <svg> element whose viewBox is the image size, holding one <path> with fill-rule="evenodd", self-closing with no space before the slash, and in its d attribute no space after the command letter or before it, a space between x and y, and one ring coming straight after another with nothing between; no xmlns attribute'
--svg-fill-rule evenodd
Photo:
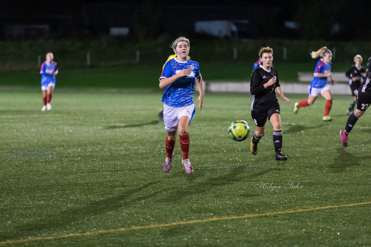
<svg viewBox="0 0 371 247"><path fill-rule="evenodd" d="M264 88L263 84L267 83L272 77L276 77L276 83ZM278 104L276 87L280 87L280 84L277 70L274 67L266 70L260 66L253 70L250 81L250 93L253 95L251 110L266 111L272 107L272 104Z"/></svg>

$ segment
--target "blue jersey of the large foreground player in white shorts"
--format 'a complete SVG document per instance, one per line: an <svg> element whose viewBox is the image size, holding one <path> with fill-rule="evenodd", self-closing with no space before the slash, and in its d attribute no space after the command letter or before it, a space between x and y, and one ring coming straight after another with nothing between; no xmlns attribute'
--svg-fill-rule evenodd
<svg viewBox="0 0 371 247"><path fill-rule="evenodd" d="M185 62L169 60L162 70L160 80L178 74L183 69L191 70L189 76L181 77L165 88L162 102L172 107L183 107L193 104L194 82L200 76L200 67L196 61Z"/></svg>

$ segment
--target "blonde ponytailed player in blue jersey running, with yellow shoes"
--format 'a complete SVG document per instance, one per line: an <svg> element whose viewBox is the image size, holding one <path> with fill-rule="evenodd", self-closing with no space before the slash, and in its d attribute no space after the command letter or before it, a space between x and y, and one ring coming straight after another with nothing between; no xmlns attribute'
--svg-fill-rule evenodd
<svg viewBox="0 0 371 247"><path fill-rule="evenodd" d="M321 94L326 99L325 114L322 117L323 121L331 121L331 117L328 116L332 106L332 94L330 86L327 83L328 78L331 79L331 84L335 81L332 79L331 73L331 50L327 49L326 46L322 47L318 51L311 52L312 58L322 57L318 60L316 68L314 69L314 79L309 86L308 100L302 100L300 103L294 104L294 113L298 113L300 107L311 106L317 99L318 95Z"/></svg>

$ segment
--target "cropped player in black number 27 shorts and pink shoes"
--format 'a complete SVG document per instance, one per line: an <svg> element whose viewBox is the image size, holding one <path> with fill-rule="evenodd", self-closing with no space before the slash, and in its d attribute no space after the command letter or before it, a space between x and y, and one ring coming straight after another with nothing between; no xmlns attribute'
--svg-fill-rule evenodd
<svg viewBox="0 0 371 247"><path fill-rule="evenodd" d="M349 116L344 130L340 130L341 143L348 147L348 134L354 127L359 117L361 117L368 106L371 104L371 57L367 61L366 80L358 89L357 109Z"/></svg>

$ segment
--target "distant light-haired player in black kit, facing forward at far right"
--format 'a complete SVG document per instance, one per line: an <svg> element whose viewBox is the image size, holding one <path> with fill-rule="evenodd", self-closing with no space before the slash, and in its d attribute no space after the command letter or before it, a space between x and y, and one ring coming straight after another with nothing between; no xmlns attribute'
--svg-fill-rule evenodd
<svg viewBox="0 0 371 247"><path fill-rule="evenodd" d="M363 58L361 55L355 55L354 65L345 73L345 76L349 78L349 86L354 96L353 102L347 110L348 115L352 114L354 106L357 104L358 88L361 86L361 79L365 79L365 69L361 66Z"/></svg>

